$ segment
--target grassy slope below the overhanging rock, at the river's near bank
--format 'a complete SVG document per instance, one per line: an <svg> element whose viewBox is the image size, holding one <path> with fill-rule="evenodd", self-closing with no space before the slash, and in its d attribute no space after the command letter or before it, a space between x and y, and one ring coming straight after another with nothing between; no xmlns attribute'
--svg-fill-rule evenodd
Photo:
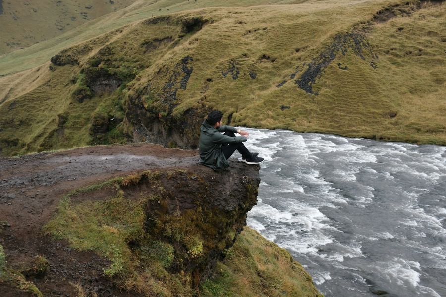
<svg viewBox="0 0 446 297"><path fill-rule="evenodd" d="M216 274L201 285L203 297L323 297L311 276L285 249L245 227Z"/></svg>

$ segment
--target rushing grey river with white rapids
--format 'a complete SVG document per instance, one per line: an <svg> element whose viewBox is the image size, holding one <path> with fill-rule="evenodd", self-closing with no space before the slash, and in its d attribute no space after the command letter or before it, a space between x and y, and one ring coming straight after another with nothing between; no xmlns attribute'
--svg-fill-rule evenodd
<svg viewBox="0 0 446 297"><path fill-rule="evenodd" d="M446 147L246 130L265 158L248 225L326 297L446 297Z"/></svg>

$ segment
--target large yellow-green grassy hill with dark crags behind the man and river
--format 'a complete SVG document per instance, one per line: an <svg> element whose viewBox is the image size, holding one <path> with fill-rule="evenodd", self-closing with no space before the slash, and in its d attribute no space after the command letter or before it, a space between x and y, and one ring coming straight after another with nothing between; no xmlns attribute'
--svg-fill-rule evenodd
<svg viewBox="0 0 446 297"><path fill-rule="evenodd" d="M210 108L232 125L446 144L443 2L282 4L290 2L133 22L1 78L1 153L161 138L193 147ZM94 21L96 30L164 12L138 3L108 16L112 24ZM66 43L99 32L83 29ZM56 42L42 55L63 47ZM20 59L36 65L32 48L0 64L12 72Z"/></svg>

